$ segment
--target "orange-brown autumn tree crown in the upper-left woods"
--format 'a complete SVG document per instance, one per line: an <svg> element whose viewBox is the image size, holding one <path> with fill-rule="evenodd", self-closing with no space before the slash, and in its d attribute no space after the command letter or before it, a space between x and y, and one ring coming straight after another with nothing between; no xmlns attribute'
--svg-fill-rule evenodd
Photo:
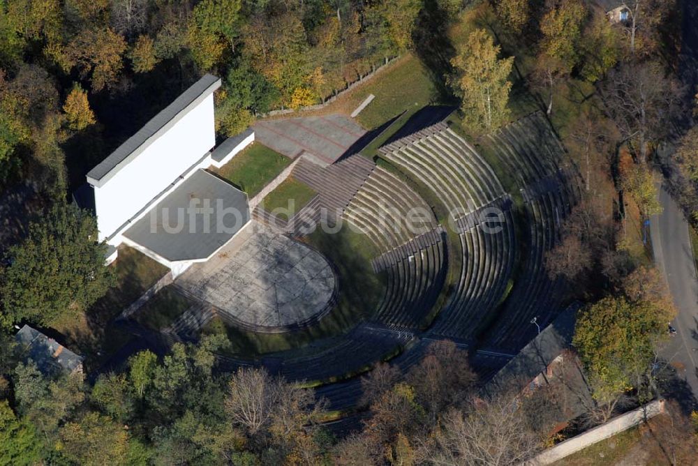
<svg viewBox="0 0 698 466"><path fill-rule="evenodd" d="M66 58L80 76L89 77L92 91L97 92L117 82L125 51L126 40L111 28L85 29L68 43Z"/></svg>

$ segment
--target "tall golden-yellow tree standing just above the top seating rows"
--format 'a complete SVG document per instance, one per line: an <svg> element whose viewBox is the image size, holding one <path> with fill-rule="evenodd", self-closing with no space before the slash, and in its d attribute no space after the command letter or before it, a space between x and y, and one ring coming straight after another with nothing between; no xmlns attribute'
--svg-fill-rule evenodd
<svg viewBox="0 0 698 466"><path fill-rule="evenodd" d="M500 46L484 29L470 33L463 51L452 60L459 77L461 110L466 122L491 130L509 117L507 103L512 83L507 80L514 57L498 58Z"/></svg>

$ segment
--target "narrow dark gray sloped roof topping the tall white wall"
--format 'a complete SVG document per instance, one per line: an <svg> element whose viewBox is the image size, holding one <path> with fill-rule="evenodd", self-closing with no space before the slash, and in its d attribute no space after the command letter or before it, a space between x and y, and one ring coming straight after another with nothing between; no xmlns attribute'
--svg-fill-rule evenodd
<svg viewBox="0 0 698 466"><path fill-rule="evenodd" d="M209 74L192 84L174 102L165 107L165 110L162 110L145 123L138 130L138 133L129 137L124 144L117 147L99 165L90 170L87 174L87 181L95 186L101 186L101 183L104 183L119 171L119 167L126 165L130 160L138 156L158 136L172 128L174 123L177 123L181 117L184 117L189 110L207 98L218 87L221 87L221 80Z"/></svg>

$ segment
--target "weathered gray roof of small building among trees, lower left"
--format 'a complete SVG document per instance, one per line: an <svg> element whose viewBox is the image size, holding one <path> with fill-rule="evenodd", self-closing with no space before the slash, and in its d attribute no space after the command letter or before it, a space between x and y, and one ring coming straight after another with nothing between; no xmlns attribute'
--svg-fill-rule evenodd
<svg viewBox="0 0 698 466"><path fill-rule="evenodd" d="M15 340L19 343L24 360L34 361L41 373L46 375L59 370L73 372L84 359L29 325L17 332Z"/></svg>

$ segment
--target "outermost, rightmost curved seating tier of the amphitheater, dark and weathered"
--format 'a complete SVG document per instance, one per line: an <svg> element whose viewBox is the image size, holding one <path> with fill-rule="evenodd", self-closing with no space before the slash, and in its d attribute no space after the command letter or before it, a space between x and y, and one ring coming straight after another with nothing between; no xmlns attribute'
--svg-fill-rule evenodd
<svg viewBox="0 0 698 466"><path fill-rule="evenodd" d="M507 125L489 136L503 164L517 174L526 201L527 255L510 298L489 327L484 346L517 352L560 309L563 283L547 276L544 255L554 247L560 225L579 199L576 167L542 113Z"/></svg>

